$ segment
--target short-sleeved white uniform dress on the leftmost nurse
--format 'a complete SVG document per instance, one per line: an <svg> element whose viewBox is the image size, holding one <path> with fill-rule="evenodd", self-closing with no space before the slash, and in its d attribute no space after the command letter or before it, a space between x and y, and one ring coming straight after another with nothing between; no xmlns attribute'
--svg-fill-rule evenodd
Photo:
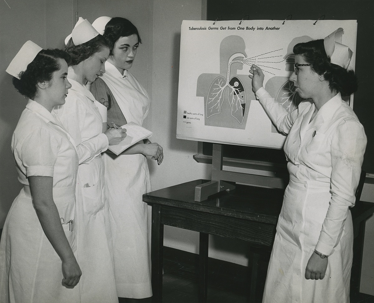
<svg viewBox="0 0 374 303"><path fill-rule="evenodd" d="M58 118L29 100L13 133L12 150L24 188L10 207L1 236L0 302L80 302L79 287L67 288L61 283L61 259L43 232L27 179L53 177L53 201L76 255L75 230L69 230L70 220L76 224L75 143Z"/></svg>

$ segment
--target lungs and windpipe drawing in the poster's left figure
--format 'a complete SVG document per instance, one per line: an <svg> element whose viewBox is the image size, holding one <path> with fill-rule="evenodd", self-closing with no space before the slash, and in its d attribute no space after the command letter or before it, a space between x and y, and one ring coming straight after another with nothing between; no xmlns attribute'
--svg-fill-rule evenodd
<svg viewBox="0 0 374 303"><path fill-rule="evenodd" d="M246 105L245 89L238 77L232 77L230 79L230 67L233 63L239 62L249 65L249 60L247 59L234 60L234 58L239 56L245 57L242 53L235 53L232 55L227 66L227 77L218 76L210 86L206 98L207 118L214 114L219 114L223 102L226 101L230 104L231 116L234 117L240 125L243 123Z"/></svg>

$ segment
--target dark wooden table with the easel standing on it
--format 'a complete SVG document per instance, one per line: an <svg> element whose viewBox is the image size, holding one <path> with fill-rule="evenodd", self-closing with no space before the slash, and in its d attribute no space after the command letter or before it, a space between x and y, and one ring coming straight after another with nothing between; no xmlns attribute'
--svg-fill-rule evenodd
<svg viewBox="0 0 374 303"><path fill-rule="evenodd" d="M164 225L200 233L199 302L206 302L207 297L209 234L240 239L254 245L273 245L283 189L237 184L235 190L218 193L203 202L195 202L195 186L206 181L194 180L143 195L143 201L153 206L152 302L162 302ZM374 203L360 203L360 207L355 209L353 215L356 225L374 212Z"/></svg>

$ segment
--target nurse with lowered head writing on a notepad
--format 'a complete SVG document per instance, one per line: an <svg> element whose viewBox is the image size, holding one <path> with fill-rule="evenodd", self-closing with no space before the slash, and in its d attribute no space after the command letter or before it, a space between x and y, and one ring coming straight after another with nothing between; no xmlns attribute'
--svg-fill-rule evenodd
<svg viewBox="0 0 374 303"><path fill-rule="evenodd" d="M84 86L105 73L104 63L109 55L106 40L82 18L67 39L65 51L71 56L68 79L72 86L66 103L56 111L74 138L79 157L76 231L78 261L83 272L81 299L90 303L117 302L101 153L108 144L118 144L126 130L112 128L102 132L106 108Z"/></svg>

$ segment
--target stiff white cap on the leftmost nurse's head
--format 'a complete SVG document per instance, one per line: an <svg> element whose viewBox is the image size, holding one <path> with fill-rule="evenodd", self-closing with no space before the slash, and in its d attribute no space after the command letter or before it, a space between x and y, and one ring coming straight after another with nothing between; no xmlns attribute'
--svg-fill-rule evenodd
<svg viewBox="0 0 374 303"><path fill-rule="evenodd" d="M27 69L27 65L33 62L36 55L41 50L42 48L39 45L28 40L24 45L22 45L21 49L10 62L6 72L19 79L19 74L21 71L25 71Z"/></svg>

